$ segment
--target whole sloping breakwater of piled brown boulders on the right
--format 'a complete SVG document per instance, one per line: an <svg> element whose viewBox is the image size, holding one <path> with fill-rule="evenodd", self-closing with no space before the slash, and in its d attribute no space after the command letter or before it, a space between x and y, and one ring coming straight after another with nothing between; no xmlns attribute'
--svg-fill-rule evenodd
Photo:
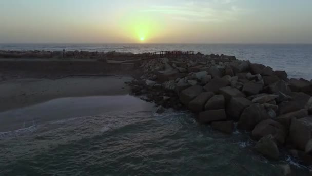
<svg viewBox="0 0 312 176"><path fill-rule="evenodd" d="M141 64L132 93L165 108L188 109L199 122L231 134L249 131L255 151L279 159L284 148L312 163L312 83L289 79L285 71L237 60L197 54L158 58Z"/></svg>

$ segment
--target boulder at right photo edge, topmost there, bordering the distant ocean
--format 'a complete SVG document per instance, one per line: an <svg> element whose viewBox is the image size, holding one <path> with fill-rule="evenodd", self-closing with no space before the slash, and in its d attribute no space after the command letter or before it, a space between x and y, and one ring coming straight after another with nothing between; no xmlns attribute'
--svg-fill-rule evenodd
<svg viewBox="0 0 312 176"><path fill-rule="evenodd" d="M294 79L291 78L288 81L288 85L293 92L303 92L312 95L312 85L309 81L304 79Z"/></svg>

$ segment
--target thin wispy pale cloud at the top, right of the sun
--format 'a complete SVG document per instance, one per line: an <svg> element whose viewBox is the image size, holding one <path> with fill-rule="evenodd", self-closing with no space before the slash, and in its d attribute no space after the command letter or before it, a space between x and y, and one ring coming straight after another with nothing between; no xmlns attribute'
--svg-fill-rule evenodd
<svg viewBox="0 0 312 176"><path fill-rule="evenodd" d="M167 14L175 20L223 22L237 20L246 12L233 3L236 0L187 1L176 5L150 6L143 12Z"/></svg>

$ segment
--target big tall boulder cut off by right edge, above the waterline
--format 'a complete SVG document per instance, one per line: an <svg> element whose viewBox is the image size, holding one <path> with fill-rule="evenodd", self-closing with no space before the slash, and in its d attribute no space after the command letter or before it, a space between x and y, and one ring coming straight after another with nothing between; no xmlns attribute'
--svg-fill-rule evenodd
<svg viewBox="0 0 312 176"><path fill-rule="evenodd" d="M312 117L292 119L289 137L297 149L305 151L305 146L312 137Z"/></svg>

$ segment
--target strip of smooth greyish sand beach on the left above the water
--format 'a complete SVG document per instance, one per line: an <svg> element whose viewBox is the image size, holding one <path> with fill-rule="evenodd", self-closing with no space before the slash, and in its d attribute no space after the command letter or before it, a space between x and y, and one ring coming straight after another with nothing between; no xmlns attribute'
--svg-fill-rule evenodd
<svg viewBox="0 0 312 176"><path fill-rule="evenodd" d="M0 82L0 112L27 107L62 97L126 95L124 83L131 77L66 77L62 79L17 79Z"/></svg>

